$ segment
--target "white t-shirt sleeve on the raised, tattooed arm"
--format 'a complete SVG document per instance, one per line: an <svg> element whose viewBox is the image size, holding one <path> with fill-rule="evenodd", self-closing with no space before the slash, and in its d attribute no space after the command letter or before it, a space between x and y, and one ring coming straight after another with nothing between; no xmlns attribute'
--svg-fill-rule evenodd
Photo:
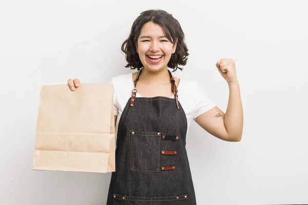
<svg viewBox="0 0 308 205"><path fill-rule="evenodd" d="M210 97L207 95L205 90L199 86L199 84L196 83L195 88L195 96L196 99L196 113L194 115L194 120L196 121L196 118L205 113L206 111L214 108L216 105L213 100L210 99Z"/></svg>

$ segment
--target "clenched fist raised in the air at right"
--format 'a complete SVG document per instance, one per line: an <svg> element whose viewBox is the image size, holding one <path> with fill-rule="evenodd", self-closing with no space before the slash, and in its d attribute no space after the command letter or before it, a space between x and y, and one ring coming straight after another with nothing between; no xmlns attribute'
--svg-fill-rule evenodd
<svg viewBox="0 0 308 205"><path fill-rule="evenodd" d="M217 61L216 67L220 72L221 76L227 81L227 83L237 83L237 76L235 70L234 59L221 58Z"/></svg>

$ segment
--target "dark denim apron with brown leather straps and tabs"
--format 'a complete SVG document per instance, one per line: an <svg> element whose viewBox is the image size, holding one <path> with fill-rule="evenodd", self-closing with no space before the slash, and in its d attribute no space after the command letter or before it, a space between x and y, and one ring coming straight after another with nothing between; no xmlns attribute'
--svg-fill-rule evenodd
<svg viewBox="0 0 308 205"><path fill-rule="evenodd" d="M141 71L119 121L107 205L195 205L175 79L168 70L175 99L136 97Z"/></svg>

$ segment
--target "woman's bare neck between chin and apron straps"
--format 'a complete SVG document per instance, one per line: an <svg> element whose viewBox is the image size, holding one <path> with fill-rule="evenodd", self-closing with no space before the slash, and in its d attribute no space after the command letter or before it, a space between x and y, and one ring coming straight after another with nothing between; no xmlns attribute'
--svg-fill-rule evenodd
<svg viewBox="0 0 308 205"><path fill-rule="evenodd" d="M140 79L144 83L162 83L170 79L168 69L163 69L160 71L149 71L147 69L142 69L140 73Z"/></svg>

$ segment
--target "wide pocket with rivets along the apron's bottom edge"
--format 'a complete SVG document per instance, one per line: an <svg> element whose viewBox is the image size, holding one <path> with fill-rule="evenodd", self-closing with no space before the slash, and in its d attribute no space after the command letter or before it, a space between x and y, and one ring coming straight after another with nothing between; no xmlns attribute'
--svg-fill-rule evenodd
<svg viewBox="0 0 308 205"><path fill-rule="evenodd" d="M139 197L113 194L113 205L187 205L187 198L187 194L159 197Z"/></svg>

